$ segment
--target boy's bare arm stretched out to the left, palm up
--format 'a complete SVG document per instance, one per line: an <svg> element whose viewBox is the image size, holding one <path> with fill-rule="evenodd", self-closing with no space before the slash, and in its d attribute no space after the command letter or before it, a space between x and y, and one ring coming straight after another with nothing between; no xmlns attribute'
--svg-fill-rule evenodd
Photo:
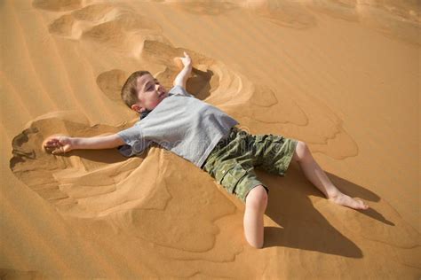
<svg viewBox="0 0 421 280"><path fill-rule="evenodd" d="M94 137L50 136L44 141L44 149L52 154L77 149L111 149L125 144L117 134Z"/></svg>

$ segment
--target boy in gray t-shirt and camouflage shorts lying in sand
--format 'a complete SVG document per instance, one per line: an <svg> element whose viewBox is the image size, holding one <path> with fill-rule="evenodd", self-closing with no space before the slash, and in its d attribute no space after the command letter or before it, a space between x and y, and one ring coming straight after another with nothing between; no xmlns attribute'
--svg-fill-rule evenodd
<svg viewBox="0 0 421 280"><path fill-rule="evenodd" d="M354 209L367 209L361 200L340 192L314 161L306 143L276 135L250 135L233 118L186 90L192 70L191 58L180 58L184 68L167 91L147 71L130 75L123 85L126 105L141 114L141 121L110 136L51 136L44 142L47 152L60 154L75 149L109 149L130 157L153 142L175 152L208 172L226 191L245 203L243 218L247 242L263 246L263 215L268 192L253 167L285 175L291 160L298 161L306 178L330 201Z"/></svg>

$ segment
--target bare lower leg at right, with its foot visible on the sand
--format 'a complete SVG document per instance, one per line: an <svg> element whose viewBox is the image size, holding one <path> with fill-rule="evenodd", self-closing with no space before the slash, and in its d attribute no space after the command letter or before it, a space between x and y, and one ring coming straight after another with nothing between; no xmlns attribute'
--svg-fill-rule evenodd
<svg viewBox="0 0 421 280"><path fill-rule="evenodd" d="M346 194L338 190L338 188L330 182L329 177L324 173L322 168L314 160L312 153L308 149L307 145L298 141L296 150L292 157L293 160L297 160L299 166L303 170L306 178L314 184L330 201L333 201L342 206L348 206L353 209L367 209L367 206L363 201L353 199Z"/></svg>

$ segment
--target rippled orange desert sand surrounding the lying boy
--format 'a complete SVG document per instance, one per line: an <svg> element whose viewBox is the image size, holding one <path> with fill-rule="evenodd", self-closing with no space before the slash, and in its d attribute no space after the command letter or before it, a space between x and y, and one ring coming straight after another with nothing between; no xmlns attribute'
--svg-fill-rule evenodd
<svg viewBox="0 0 421 280"><path fill-rule="evenodd" d="M4 278L421 276L419 1L1 1ZM253 134L305 141L368 211L336 206L297 163L270 189L265 246L244 205L186 159L151 147L43 152L137 115L119 89L148 70Z"/></svg>

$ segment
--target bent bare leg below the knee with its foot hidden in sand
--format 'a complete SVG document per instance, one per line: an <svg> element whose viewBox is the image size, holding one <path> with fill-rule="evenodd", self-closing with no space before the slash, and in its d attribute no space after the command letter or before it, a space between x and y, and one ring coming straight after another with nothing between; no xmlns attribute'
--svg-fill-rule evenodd
<svg viewBox="0 0 421 280"><path fill-rule="evenodd" d="M262 185L251 189L246 197L244 212L244 235L247 242L255 247L262 248L264 237L263 215L267 206L267 192Z"/></svg>

